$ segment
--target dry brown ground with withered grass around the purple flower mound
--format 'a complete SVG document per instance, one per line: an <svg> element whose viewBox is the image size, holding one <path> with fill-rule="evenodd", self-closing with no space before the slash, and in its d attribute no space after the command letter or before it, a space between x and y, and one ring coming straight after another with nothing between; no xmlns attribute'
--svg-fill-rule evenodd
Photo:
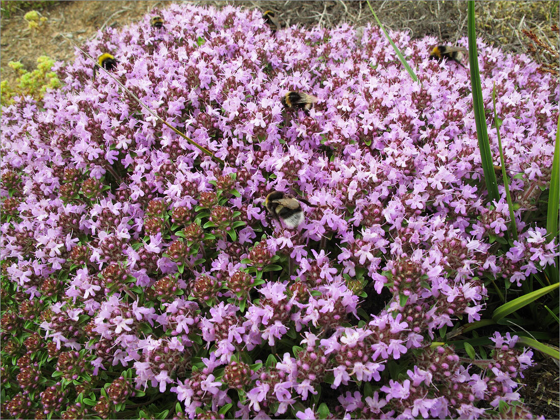
<svg viewBox="0 0 560 420"><path fill-rule="evenodd" d="M40 55L56 60L73 58L73 46L93 36L97 29L123 27L138 21L153 8L164 8L169 1L68 1L46 7L41 14L48 18L40 29L30 30L24 12L0 19L0 67L2 80L15 81L16 74L7 67L10 61L20 61L31 71ZM374 19L365 1L198 1L199 4L259 8L274 10L287 25L338 25L341 22L360 26ZM414 38L438 36L454 43L466 36L466 7L464 1L377 1L372 2L377 16L388 29L408 29ZM480 1L477 7L477 33L509 52L527 52L529 41L522 29L533 30L558 50L558 37L550 26L558 21L558 2L555 1ZM547 59L546 57L535 57ZM522 398L534 414L558 418L558 366L549 360L526 372L527 385Z"/></svg>

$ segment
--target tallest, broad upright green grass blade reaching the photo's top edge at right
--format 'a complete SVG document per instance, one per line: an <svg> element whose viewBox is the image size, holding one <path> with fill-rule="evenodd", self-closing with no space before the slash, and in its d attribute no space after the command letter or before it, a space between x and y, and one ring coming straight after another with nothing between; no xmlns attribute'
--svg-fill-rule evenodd
<svg viewBox="0 0 560 420"><path fill-rule="evenodd" d="M484 114L484 101L482 99L482 87L480 87L480 73L478 71L478 51L477 35L474 26L474 0L469 0L468 7L468 36L469 36L469 64L470 64L470 84L473 89L473 111L474 120L477 124L478 148L482 169L484 170L484 181L488 190L488 198L499 200L498 181L494 172L492 162L492 152L488 141L488 131L486 127L486 116Z"/></svg>

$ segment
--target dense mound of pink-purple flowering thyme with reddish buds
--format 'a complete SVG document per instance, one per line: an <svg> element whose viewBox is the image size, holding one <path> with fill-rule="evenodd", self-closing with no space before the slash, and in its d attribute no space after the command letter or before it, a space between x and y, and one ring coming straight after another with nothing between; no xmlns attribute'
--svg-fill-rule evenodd
<svg viewBox="0 0 560 420"><path fill-rule="evenodd" d="M558 81L480 44L519 241L486 204L468 71L435 38L273 34L256 11L171 5L85 46L44 109L2 109L2 413L15 418L479 418L519 403L532 352L440 343L485 284L554 264L522 216L550 181ZM287 112L287 91L319 98ZM496 130L489 130L498 158ZM268 218L270 190L305 222ZM293 270L292 270L293 268ZM510 410L509 412L507 410ZM521 413L521 414L520 414Z"/></svg>

